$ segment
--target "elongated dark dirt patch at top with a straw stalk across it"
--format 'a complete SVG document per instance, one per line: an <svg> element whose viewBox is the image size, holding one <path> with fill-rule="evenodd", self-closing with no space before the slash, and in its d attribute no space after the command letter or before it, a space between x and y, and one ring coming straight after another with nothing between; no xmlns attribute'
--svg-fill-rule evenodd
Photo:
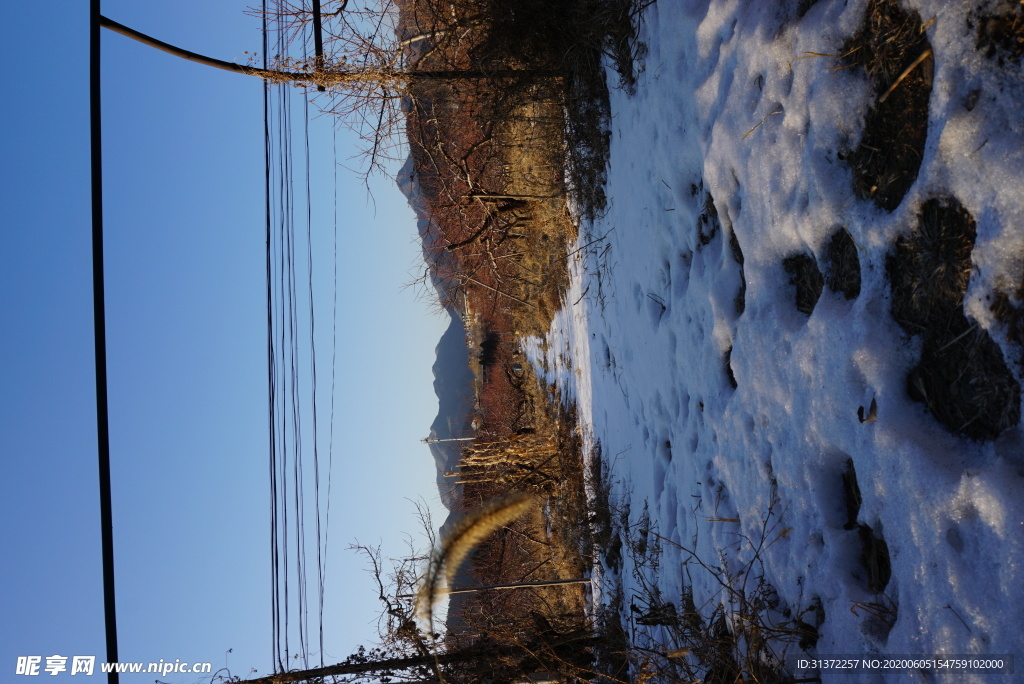
<svg viewBox="0 0 1024 684"><path fill-rule="evenodd" d="M871 0L841 54L846 65L866 74L876 96L860 143L846 155L853 188L893 211L921 169L934 71L931 45L915 11L904 11L895 0Z"/></svg>

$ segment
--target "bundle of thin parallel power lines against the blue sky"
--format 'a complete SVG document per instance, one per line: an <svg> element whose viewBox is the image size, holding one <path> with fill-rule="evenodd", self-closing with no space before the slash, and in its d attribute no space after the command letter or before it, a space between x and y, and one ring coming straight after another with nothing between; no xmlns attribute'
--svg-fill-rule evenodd
<svg viewBox="0 0 1024 684"><path fill-rule="evenodd" d="M293 41L281 15L263 16L264 63L267 55L287 58L289 47L301 43L308 56L308 32ZM269 405L271 630L273 657L279 671L290 669L293 658L309 666L315 611L315 639L323 664L324 600L330 522L331 472L327 475L327 515L322 511L319 450L319 359L316 349L315 284L313 279L313 230L309 102L302 109L291 97L291 88L271 87L264 92L264 164L267 260L267 376ZM293 125L302 118L302 139ZM335 143L336 145L337 143ZM298 145L301 145L299 147ZM337 154L337 152L335 152ZM299 157L301 155L301 158ZM301 174L305 174L304 177ZM337 203L337 190L335 191ZM303 206L304 205L304 206ZM337 207L337 204L336 204ZM304 211L303 211L304 210ZM300 213L301 212L301 213ZM335 210L337 224L337 208ZM304 222L304 225L301 223ZM335 226L335 231L337 225ZM299 250L305 240L305 260ZM335 234L335 262L337 234ZM303 272L304 271L304 272ZM300 286L305 281L304 287ZM335 265L333 340L337 340L337 264ZM308 353L308 364L304 354ZM332 355L331 421L333 452L336 354ZM311 417L311 420L307 420ZM309 497L308 439L312 439L312 497ZM332 461L333 464L333 461ZM308 515L315 520L309 521ZM312 524L307 527L307 521ZM309 544L316 544L315 570L307 557ZM315 603L311 605L309 580L315 572ZM293 641L297 637L297 644Z"/></svg>

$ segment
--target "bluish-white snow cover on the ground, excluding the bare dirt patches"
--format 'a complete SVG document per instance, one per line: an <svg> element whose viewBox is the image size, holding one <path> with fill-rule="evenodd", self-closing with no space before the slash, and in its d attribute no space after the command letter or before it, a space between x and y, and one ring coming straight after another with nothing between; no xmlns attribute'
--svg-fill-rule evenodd
<svg viewBox="0 0 1024 684"><path fill-rule="evenodd" d="M890 213L856 197L837 155L863 130L866 79L800 58L836 54L866 0L820 0L799 18L785 4L659 0L646 10L636 93L612 93L607 212L583 225L578 247L590 244L573 256L565 306L527 346L577 402L634 519L646 504L658 535L738 567L751 554L741 536L758 541L772 514L765 579L792 615L820 601L811 654L1024 655L1021 428L971 440L908 396L922 342L893 319L885 265L929 199L955 197L977 220L965 311L1021 380L1020 348L986 300L1013 291L1024 264L1020 63L1001 68L976 49L977 3L903 3L926 25L934 86L920 174ZM860 292L848 300L825 287L807 315L782 261L806 253L824 270L838 226L856 245ZM861 422L872 401L877 420ZM859 511L846 503L848 459ZM891 558L884 596L862 560L870 539ZM721 594L711 573L682 566L687 557L664 544L653 581L676 605L691 584L700 606ZM627 613L642 593L630 564L618 573ZM865 604L894 607L891 630Z"/></svg>

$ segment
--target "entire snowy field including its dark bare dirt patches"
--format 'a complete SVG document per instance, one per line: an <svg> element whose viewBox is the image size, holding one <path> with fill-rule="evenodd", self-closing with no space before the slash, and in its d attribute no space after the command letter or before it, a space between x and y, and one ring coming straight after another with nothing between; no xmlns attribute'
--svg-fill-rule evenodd
<svg viewBox="0 0 1024 684"><path fill-rule="evenodd" d="M646 10L607 211L530 344L603 465L635 676L983 682L963 664L1024 652L1022 11Z"/></svg>

